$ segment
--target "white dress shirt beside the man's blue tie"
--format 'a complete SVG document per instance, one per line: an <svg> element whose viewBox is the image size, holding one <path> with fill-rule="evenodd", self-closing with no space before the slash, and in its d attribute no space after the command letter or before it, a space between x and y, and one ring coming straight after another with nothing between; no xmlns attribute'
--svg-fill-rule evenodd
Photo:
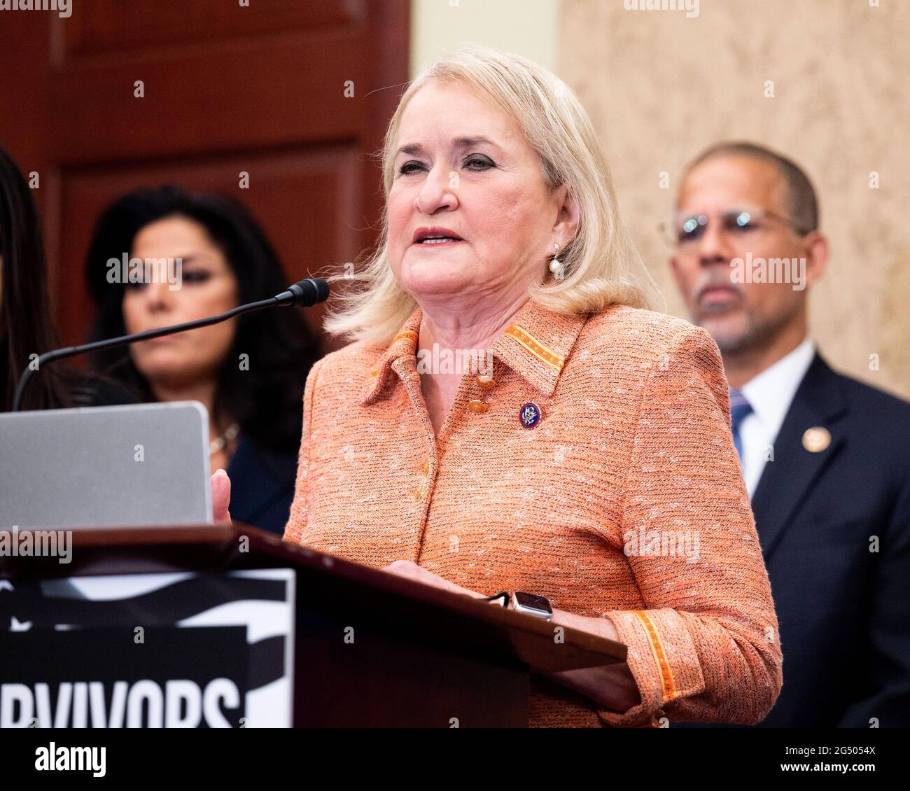
<svg viewBox="0 0 910 791"><path fill-rule="evenodd" d="M773 452L773 442L815 356L815 343L806 337L793 351L746 382L741 392L752 409L740 424L743 442L743 481L751 498Z"/></svg>

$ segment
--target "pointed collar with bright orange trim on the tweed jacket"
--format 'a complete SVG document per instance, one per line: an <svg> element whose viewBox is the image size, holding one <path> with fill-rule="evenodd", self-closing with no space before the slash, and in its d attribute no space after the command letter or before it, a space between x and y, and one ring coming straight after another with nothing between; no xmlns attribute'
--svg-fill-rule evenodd
<svg viewBox="0 0 910 791"><path fill-rule="evenodd" d="M411 369L416 373L422 318L422 309L416 309L374 361L363 390L363 406L378 401L389 390L396 372L399 376ZM528 299L490 351L549 398L586 320L583 316L562 316ZM396 365L398 360L402 362Z"/></svg>

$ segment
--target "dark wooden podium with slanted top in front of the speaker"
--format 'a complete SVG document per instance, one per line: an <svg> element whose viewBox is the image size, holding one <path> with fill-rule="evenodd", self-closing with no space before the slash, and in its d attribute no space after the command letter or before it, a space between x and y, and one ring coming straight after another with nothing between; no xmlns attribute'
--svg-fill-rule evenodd
<svg viewBox="0 0 910 791"><path fill-rule="evenodd" d="M83 528L72 537L70 563L4 556L0 580L12 588L101 574L293 570L297 727L525 727L532 672L625 661L622 644L571 629L560 642L532 616L254 528Z"/></svg>

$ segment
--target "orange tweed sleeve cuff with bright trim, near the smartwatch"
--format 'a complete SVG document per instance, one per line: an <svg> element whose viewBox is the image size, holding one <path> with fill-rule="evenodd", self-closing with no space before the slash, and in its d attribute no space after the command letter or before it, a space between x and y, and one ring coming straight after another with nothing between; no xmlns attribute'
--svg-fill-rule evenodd
<svg viewBox="0 0 910 791"><path fill-rule="evenodd" d="M675 610L613 610L606 614L619 641L628 648L626 662L642 702L622 714L598 707L613 727L658 727L663 706L704 691L702 664L692 635Z"/></svg>

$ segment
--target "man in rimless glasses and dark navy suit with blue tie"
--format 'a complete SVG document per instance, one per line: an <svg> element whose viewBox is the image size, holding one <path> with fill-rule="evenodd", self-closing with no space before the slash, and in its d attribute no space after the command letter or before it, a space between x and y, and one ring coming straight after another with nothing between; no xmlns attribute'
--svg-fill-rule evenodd
<svg viewBox="0 0 910 791"><path fill-rule="evenodd" d="M723 354L780 625L784 689L762 725L910 725L910 404L815 350L814 188L773 151L721 144L687 168L666 230Z"/></svg>

